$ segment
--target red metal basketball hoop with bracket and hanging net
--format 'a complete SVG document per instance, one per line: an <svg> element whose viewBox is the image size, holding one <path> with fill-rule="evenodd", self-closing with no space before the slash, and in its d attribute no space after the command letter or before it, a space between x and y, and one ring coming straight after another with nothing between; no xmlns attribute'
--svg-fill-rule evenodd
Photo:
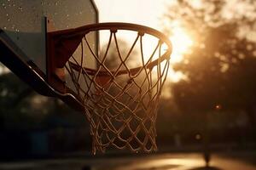
<svg viewBox="0 0 256 170"><path fill-rule="evenodd" d="M90 32L108 31L104 53L95 53L89 43ZM131 48L121 53L122 31L136 32ZM152 54L145 56L145 37L152 42ZM146 26L126 23L101 23L66 31L50 32L49 83L61 93L73 87L73 93L84 105L93 139L92 152L107 149L129 149L134 152L157 150L155 120L160 93L166 81L172 44L160 31ZM133 52L138 47L136 61ZM80 48L79 58L73 53ZM95 47L94 47L95 48ZM109 66L110 48L114 48L116 66ZM147 47L148 48L148 47ZM90 54L84 54L84 50ZM96 69L84 67L89 57L96 61ZM132 63L132 65L131 65ZM135 65L135 66L134 66ZM71 77L71 85L63 78L63 70ZM62 73L61 73L62 71ZM53 81L57 77L59 81Z"/></svg>

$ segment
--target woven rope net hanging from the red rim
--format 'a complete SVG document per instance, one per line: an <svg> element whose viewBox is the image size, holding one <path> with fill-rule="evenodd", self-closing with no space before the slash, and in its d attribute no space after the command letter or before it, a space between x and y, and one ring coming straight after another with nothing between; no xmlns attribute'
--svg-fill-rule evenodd
<svg viewBox="0 0 256 170"><path fill-rule="evenodd" d="M66 71L90 122L93 154L107 149L154 151L157 150L157 108L169 69L167 55L170 53L163 53L164 42L159 40L153 53L145 57L145 32L137 31L130 50L122 54L117 32L110 30L107 48L101 56L93 50L88 32L85 33L79 45L80 58L72 56L65 65ZM65 47L64 43L62 45ZM140 58L142 65L133 69L129 59L137 45L140 47L137 59ZM115 48L119 59L119 65L114 68L107 64L111 47ZM96 60L96 69L83 66L87 57L85 48ZM157 59L154 59L155 55Z"/></svg>

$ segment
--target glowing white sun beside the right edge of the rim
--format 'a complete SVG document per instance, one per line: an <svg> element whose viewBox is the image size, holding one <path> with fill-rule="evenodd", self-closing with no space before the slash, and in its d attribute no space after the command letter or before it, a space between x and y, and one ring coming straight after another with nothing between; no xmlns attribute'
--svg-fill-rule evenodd
<svg viewBox="0 0 256 170"><path fill-rule="evenodd" d="M171 62L177 63L183 60L183 55L189 53L189 49L193 45L193 40L189 34L181 27L175 27L170 37L172 42L172 58Z"/></svg>

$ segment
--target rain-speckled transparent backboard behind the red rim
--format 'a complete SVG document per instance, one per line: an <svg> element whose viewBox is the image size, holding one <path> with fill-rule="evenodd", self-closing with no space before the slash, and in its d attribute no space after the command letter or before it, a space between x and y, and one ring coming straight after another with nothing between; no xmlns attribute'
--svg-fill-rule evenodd
<svg viewBox="0 0 256 170"><path fill-rule="evenodd" d="M47 32L98 22L98 11L93 0L3 0L0 16L0 61L21 79L26 79L25 81L30 83L32 88L38 89L40 94L49 96L58 94L58 91L46 80ZM90 43L94 44L93 50L97 51L97 33L90 36ZM8 50L12 56L16 56L14 59L11 59ZM77 51L74 57L79 53ZM6 63L7 60L9 63ZM15 60L18 63L15 63ZM21 64L24 64L24 67L19 71ZM88 61L87 65L96 67L93 61ZM28 75L29 78L26 78ZM66 78L68 80L68 77ZM33 82L35 80L38 82ZM42 90L43 84L48 86L49 90Z"/></svg>

